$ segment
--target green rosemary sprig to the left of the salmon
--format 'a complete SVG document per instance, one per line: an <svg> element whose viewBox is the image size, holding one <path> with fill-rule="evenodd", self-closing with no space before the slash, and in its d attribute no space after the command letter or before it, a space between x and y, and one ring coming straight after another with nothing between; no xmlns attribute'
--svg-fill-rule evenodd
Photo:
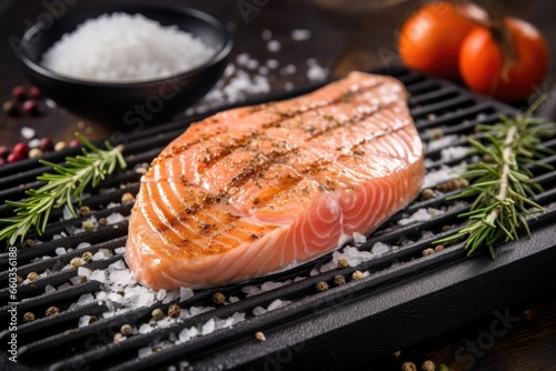
<svg viewBox="0 0 556 371"><path fill-rule="evenodd" d="M77 217L72 201L78 200L81 203L88 186L97 187L117 166L120 169L127 167L121 146L112 147L107 141L107 150L101 150L81 134L76 133L76 137L83 144L83 154L66 158L66 166L39 160L40 163L52 167L54 171L37 177L37 180L47 183L38 190L26 191L28 198L23 201L6 201L14 208L16 217L0 219L0 223L8 224L0 230L0 240L7 240L8 244L13 245L19 237L22 243L32 227L39 235L42 234L53 208L67 205L71 214Z"/></svg>

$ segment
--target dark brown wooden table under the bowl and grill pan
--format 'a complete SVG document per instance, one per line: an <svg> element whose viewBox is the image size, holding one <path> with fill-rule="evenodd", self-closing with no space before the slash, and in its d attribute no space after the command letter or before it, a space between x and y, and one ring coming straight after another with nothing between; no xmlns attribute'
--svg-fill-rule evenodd
<svg viewBox="0 0 556 371"><path fill-rule="evenodd" d="M0 3L0 101L10 98L16 84L29 87L10 40L20 38L23 30L44 14L57 14L92 3L111 1L21 1L3 0ZM138 3L146 1L119 1ZM160 1L158 1L160 2ZM276 59L279 68L270 73L271 90L310 82L307 69L311 60L326 68L330 74L350 70L387 68L399 63L396 52L396 34L404 18L417 7L417 1L404 0L318 0L318 1L258 1L250 2L249 11L241 12L240 1L163 1L191 4L206 10L225 21L234 31L234 54L248 53L251 59L265 62ZM504 1L510 14L519 16L547 36L552 56L556 56L555 7L550 0ZM57 6L54 6L57 4ZM296 41L294 29L309 30L310 39ZM267 31L267 32L266 32ZM265 38L280 42L280 50L267 48ZM280 70L295 66L295 71ZM556 94L556 67L552 63L544 84L538 92ZM56 141L70 141L79 131L91 140L109 138L116 130L113 123L92 122L78 118L59 108L49 108L41 101L40 114L36 117L0 116L0 146L12 147L26 141L21 129L32 128L36 137L48 137ZM438 303L438 311L443 303ZM507 331L494 337L493 322L499 313L512 317ZM556 370L556 295L546 292L542 297L527 298L499 313L480 319L468 327L456 329L437 339L430 339L410 349L386 355L368 365L368 370L399 370L405 361L420 363L429 359L436 364L445 363L450 370ZM434 313L433 313L434 315ZM465 315L461 313L460 315Z"/></svg>

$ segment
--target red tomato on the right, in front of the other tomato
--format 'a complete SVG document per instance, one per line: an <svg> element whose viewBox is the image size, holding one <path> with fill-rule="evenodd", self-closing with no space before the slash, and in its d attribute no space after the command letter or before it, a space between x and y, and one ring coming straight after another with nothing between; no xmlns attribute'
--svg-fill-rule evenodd
<svg viewBox="0 0 556 371"><path fill-rule="evenodd" d="M484 27L473 29L464 40L459 54L459 72L470 89L507 102L525 101L548 69L548 47L532 24L507 18L515 61L507 76L503 71L499 44Z"/></svg>

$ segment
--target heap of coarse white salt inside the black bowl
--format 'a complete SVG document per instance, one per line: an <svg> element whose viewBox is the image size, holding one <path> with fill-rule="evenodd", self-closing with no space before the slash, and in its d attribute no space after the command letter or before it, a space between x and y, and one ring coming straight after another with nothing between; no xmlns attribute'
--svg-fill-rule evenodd
<svg viewBox="0 0 556 371"><path fill-rule="evenodd" d="M190 70L214 53L176 26L115 12L89 19L64 34L43 54L42 64L85 80L146 81Z"/></svg>

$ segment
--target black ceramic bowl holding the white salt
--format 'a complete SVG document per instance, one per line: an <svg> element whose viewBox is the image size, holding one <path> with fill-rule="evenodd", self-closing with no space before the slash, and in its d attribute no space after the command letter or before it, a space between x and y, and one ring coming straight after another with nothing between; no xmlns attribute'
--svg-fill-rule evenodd
<svg viewBox="0 0 556 371"><path fill-rule="evenodd" d="M96 82L63 77L41 66L41 58L62 34L87 19L122 11L140 13L177 26L216 49L203 64L158 80ZM115 127L139 127L167 121L205 96L221 77L232 46L224 24L201 11L178 6L129 6L83 8L66 13L50 24L36 24L23 36L19 57L33 84L57 104L77 116Z"/></svg>

